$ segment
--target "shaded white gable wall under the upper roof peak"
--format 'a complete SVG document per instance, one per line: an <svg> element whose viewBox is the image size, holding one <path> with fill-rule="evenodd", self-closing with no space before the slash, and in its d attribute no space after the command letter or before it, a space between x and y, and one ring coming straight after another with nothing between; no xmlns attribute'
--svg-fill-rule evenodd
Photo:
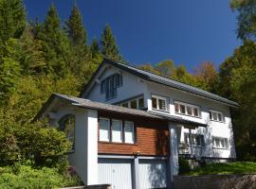
<svg viewBox="0 0 256 189"><path fill-rule="evenodd" d="M101 74L101 77L99 77L99 79L102 80L105 77L109 77L118 72L119 70L117 70L116 68L108 67ZM146 92L147 85L144 81L142 81L138 77L130 75L127 72L121 72L121 74L122 74L122 86L118 88L117 98L106 101L105 94L101 94L101 83L95 83L90 93L84 97L93 101L113 104L121 100L136 96L138 94L144 94ZM144 104L146 104L146 102Z"/></svg>

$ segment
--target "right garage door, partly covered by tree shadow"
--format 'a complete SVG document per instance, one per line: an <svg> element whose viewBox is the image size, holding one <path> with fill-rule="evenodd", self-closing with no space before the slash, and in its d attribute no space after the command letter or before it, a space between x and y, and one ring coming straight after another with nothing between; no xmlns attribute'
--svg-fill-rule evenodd
<svg viewBox="0 0 256 189"><path fill-rule="evenodd" d="M139 160L139 187L166 188L167 163L163 160Z"/></svg>

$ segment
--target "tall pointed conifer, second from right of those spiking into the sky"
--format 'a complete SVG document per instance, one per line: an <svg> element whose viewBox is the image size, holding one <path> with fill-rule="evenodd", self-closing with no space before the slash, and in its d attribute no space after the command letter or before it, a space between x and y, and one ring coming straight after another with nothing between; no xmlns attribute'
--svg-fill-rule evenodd
<svg viewBox="0 0 256 189"><path fill-rule="evenodd" d="M65 22L65 31L73 45L86 46L87 33L82 25L82 15L75 5L71 11L68 21Z"/></svg>

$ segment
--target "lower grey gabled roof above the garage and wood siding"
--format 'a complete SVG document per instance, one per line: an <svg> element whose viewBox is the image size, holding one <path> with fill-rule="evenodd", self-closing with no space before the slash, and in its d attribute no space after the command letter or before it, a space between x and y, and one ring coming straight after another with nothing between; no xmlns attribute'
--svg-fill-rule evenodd
<svg viewBox="0 0 256 189"><path fill-rule="evenodd" d="M164 114L157 114L155 112L146 112L146 111L141 111L137 109L129 109L125 107L120 107L117 105L111 105L111 104L104 104L101 102L95 102L91 101L88 99L80 98L80 97L75 97L71 95L65 95L65 94L51 94L51 96L48 98L46 101L46 104L43 106L40 112L37 113L33 121L39 120L44 112L46 112L47 107L52 103L54 99L60 99L70 105L81 107L81 108L86 108L90 110L96 110L96 111L104 111L104 112L117 112L117 113L122 113L122 114L129 114L129 115L134 115L134 116L139 116L141 118L153 118L153 119L161 119L161 120L170 120L175 123L180 123L184 125L189 125L189 126L201 126L201 127L206 127L206 124L202 123L197 123L193 122L191 120L184 119L182 117L178 116L173 116L173 115L164 115Z"/></svg>

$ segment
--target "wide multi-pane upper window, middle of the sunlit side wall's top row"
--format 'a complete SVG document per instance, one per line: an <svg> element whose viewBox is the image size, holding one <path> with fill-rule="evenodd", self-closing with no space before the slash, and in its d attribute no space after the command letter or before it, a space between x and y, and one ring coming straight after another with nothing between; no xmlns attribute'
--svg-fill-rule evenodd
<svg viewBox="0 0 256 189"><path fill-rule="evenodd" d="M176 101L174 102L174 107L176 113L200 117L200 109L198 106Z"/></svg>

